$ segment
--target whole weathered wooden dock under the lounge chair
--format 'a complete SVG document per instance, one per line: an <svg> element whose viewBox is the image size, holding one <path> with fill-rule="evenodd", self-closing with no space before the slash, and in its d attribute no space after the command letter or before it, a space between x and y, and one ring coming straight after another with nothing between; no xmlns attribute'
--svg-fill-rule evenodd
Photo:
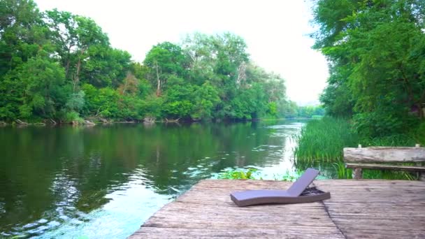
<svg viewBox="0 0 425 239"><path fill-rule="evenodd" d="M202 180L148 219L136 238L425 238L425 182L316 180L331 199L238 208L231 191L291 182Z"/></svg>

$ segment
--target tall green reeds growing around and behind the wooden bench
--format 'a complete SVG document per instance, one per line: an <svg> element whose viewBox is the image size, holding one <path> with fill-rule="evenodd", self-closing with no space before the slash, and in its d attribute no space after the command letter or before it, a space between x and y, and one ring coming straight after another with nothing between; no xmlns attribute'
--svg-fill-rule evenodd
<svg viewBox="0 0 425 239"><path fill-rule="evenodd" d="M425 126L422 126L425 128ZM323 117L311 120L301 130L301 135L294 136L298 146L294 150L295 166L299 170L308 167L320 168L328 178L352 178L352 170L345 168L343 148L367 146L414 146L424 142L421 131L405 135L384 138L360 138L351 130L348 119ZM363 178L369 179L407 179L417 178L412 173L398 171L363 170Z"/></svg>

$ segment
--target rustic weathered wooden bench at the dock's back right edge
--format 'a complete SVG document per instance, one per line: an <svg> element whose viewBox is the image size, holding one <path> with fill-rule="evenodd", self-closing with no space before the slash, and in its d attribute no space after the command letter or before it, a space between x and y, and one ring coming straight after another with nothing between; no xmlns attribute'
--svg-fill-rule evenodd
<svg viewBox="0 0 425 239"><path fill-rule="evenodd" d="M346 168L353 168L353 178L361 179L362 168L378 170L413 171L419 173L419 180L425 181L425 147L345 147ZM384 163L384 164L379 164ZM388 163L398 163L389 165ZM402 166L401 163L416 163L417 166Z"/></svg>

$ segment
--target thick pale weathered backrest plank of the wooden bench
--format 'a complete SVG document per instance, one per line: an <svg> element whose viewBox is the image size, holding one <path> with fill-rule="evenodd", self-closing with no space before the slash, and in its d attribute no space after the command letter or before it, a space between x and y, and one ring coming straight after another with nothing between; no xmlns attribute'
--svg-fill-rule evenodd
<svg viewBox="0 0 425 239"><path fill-rule="evenodd" d="M345 147L344 161L351 163L423 162L425 147Z"/></svg>

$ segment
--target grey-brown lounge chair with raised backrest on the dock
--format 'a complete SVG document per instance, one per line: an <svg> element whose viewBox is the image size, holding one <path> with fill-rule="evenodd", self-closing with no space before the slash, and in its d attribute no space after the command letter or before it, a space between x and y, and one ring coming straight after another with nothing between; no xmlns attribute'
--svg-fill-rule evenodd
<svg viewBox="0 0 425 239"><path fill-rule="evenodd" d="M331 198L331 193L308 185L319 175L319 171L308 168L287 190L233 191L231 200L240 207L267 203L311 203Z"/></svg>

